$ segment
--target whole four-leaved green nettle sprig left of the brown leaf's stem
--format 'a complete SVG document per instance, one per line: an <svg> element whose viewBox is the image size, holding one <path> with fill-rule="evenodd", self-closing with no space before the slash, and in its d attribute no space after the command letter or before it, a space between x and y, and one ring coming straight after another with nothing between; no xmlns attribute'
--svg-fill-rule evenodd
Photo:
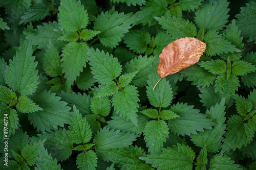
<svg viewBox="0 0 256 170"><path fill-rule="evenodd" d="M103 51L96 51L93 48L87 48L90 65L92 66L92 74L96 81L103 86L98 90L95 95L96 98L102 96L112 96L111 102L114 111L120 116L131 120L137 125L138 112L138 91L134 85L129 85L137 72L121 74L122 66L116 57L104 53ZM118 81L117 81L117 77Z"/></svg>

